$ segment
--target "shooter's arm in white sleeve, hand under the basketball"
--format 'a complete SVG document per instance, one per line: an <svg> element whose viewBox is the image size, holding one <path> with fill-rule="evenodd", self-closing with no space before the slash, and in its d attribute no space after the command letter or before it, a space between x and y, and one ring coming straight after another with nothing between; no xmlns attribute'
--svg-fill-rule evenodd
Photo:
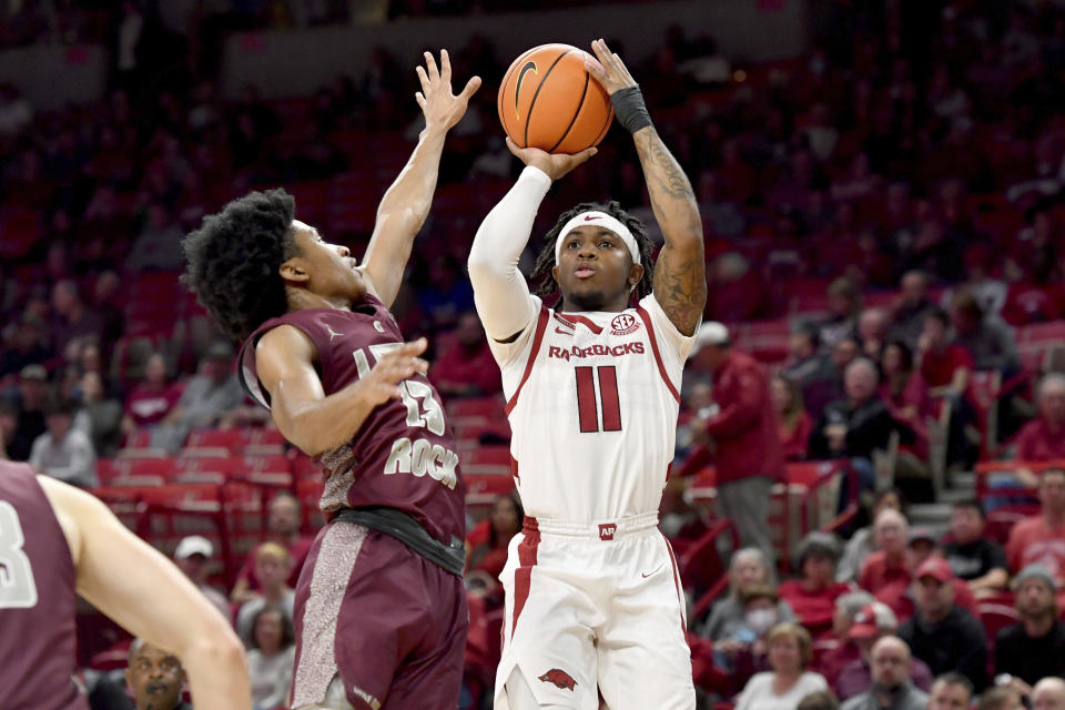
<svg viewBox="0 0 1065 710"><path fill-rule="evenodd" d="M596 154L551 154L537 148L507 148L524 162L518 182L481 222L469 251L469 281L477 314L493 339L513 341L535 316L529 286L518 271L518 260L532 232L532 221L551 183Z"/></svg>

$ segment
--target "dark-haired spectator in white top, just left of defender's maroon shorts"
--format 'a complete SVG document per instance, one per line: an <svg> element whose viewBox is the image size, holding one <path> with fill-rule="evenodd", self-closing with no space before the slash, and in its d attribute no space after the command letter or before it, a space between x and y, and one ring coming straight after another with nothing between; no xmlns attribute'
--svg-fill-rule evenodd
<svg viewBox="0 0 1065 710"><path fill-rule="evenodd" d="M263 607L252 619L252 647L247 668L254 710L287 708L296 661L292 621L277 607Z"/></svg>

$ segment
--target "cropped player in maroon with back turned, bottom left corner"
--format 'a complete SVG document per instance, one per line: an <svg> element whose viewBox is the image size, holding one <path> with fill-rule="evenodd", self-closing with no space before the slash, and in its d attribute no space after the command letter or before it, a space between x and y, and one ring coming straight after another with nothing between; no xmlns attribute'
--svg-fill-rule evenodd
<svg viewBox="0 0 1065 710"><path fill-rule="evenodd" d="M250 710L229 621L165 557L83 490L0 462L0 706L89 710L72 680L75 597L173 651L199 710Z"/></svg>

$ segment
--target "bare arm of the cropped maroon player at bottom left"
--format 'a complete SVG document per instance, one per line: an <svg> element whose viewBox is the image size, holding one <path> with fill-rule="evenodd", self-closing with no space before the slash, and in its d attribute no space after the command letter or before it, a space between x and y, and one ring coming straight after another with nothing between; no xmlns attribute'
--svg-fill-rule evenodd
<svg viewBox="0 0 1065 710"><path fill-rule="evenodd" d="M38 476L67 537L78 594L120 626L178 655L200 710L251 710L240 640L207 598L93 496Z"/></svg>

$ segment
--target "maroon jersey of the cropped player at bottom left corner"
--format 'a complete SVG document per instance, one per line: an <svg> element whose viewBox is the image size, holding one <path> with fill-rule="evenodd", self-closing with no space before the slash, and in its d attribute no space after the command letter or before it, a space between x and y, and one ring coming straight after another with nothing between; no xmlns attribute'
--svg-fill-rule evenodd
<svg viewBox="0 0 1065 710"><path fill-rule="evenodd" d="M73 682L74 562L33 469L0 462L0 706L88 710Z"/></svg>

